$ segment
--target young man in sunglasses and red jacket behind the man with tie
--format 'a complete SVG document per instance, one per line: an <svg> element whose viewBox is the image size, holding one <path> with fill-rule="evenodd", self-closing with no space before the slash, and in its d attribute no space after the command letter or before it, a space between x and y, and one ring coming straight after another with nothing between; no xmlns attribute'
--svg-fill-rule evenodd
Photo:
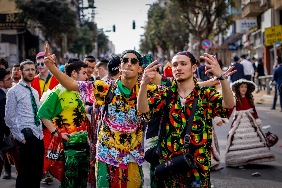
<svg viewBox="0 0 282 188"><path fill-rule="evenodd" d="M45 66L44 60L45 52L39 52L36 55L36 67L39 71L39 74L34 77L34 80L30 83L31 87L36 89L39 94L39 100L44 92L47 89L52 90L56 85L59 84L55 76L53 76L48 68ZM44 144L45 144L45 156L47 155L47 150L50 145L50 131L46 129L43 124L43 135L44 135ZM46 167L46 158L44 158L44 168L43 168L43 182L50 183L53 182L52 177L45 176L45 167Z"/></svg>

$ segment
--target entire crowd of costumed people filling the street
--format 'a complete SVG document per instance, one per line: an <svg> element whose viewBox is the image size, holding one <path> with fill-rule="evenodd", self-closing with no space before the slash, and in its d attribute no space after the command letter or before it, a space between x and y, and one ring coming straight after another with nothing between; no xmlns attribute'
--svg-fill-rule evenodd
<svg viewBox="0 0 282 188"><path fill-rule="evenodd" d="M50 136L61 132L65 169L60 187L86 187L87 182L92 187L142 187L144 122L161 117L163 131L157 143L161 154L157 165L149 165L151 187L211 187L211 167L219 169L213 126L228 124L234 105L226 165L275 160L259 129L251 94L256 89L251 81L255 69L244 56L240 59L238 63L234 57L233 67L223 72L216 56L205 53L198 65L193 54L179 52L171 59L173 79L158 73L160 64L153 57L135 50L97 63L93 56L83 61L73 57L58 68L47 44L35 63L25 59L15 64L12 77L5 62L7 66L0 68L3 178L11 178L8 164L13 164L16 187L51 183L52 177L45 174L47 149ZM214 75L211 79L206 77L209 72ZM222 94L215 85L221 86ZM248 121L240 123L244 119ZM189 133L188 122L192 122ZM238 136L242 130L250 133L245 140ZM158 165L171 165L170 160L188 153L194 168L165 181L157 179ZM32 181L27 181L30 176Z"/></svg>

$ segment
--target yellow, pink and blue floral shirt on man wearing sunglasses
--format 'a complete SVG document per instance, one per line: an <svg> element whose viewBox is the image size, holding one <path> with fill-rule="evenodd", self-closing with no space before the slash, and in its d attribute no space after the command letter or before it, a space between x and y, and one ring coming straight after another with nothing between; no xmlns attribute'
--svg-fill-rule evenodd
<svg viewBox="0 0 282 188"><path fill-rule="evenodd" d="M113 100L108 106L102 121L96 145L96 159L116 167L127 169L130 155L138 165L144 163L144 154L141 149L142 127L141 116L137 111L137 94L140 82L131 92L129 98L122 96L116 80L112 93ZM105 106L105 96L109 92L111 80L98 80L92 82L78 81L81 99L100 105L102 112ZM133 159L133 160L134 160Z"/></svg>

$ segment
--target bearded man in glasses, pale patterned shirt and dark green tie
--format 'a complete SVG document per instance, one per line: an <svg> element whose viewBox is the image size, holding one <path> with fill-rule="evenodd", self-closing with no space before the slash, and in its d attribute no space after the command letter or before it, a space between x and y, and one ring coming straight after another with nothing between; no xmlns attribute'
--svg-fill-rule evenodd
<svg viewBox="0 0 282 188"><path fill-rule="evenodd" d="M21 62L21 80L6 94L5 122L17 142L19 170L17 187L40 187L44 162L41 121L36 117L40 107L37 90L30 87L36 68L26 59Z"/></svg>

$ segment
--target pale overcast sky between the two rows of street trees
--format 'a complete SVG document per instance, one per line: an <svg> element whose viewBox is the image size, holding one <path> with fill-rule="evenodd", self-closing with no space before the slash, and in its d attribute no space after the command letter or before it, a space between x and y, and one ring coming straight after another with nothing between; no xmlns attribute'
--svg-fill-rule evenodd
<svg viewBox="0 0 282 188"><path fill-rule="evenodd" d="M87 1L86 1L87 2ZM103 28L105 35L115 45L116 54L124 50L139 50L140 35L144 35L149 5L155 0L95 0L95 22L97 28ZM87 3L88 4L88 3ZM90 12L90 10L89 10ZM135 30L132 22L135 20ZM115 25L116 32L113 32ZM105 32L111 30L111 32Z"/></svg>

